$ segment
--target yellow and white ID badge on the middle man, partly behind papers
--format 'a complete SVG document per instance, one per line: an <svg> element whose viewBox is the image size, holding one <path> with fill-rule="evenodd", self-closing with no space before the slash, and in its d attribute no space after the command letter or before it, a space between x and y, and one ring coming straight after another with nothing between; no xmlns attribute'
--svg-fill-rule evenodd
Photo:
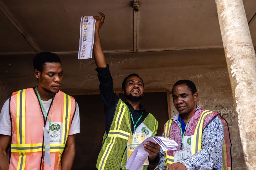
<svg viewBox="0 0 256 170"><path fill-rule="evenodd" d="M127 142L127 161L129 157L131 156L132 152L136 149L137 146L139 146L140 143L145 141L146 136L145 133L140 133L140 134L130 134ZM149 161L148 158L145 160L143 165L148 165Z"/></svg>

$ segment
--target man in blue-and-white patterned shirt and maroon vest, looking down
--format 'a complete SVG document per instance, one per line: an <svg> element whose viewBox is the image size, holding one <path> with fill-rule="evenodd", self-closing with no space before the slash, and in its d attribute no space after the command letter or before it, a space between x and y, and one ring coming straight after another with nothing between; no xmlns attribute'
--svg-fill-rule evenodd
<svg viewBox="0 0 256 170"><path fill-rule="evenodd" d="M223 167L229 169L231 167L231 143L226 121L217 113L197 106L198 94L192 81L180 80L175 83L172 91L174 106L178 114L165 124L163 136L172 138L179 146L177 150L163 151L160 149L160 161L156 170L221 170L222 164ZM202 134L201 140L197 140L196 143L196 139L200 136L197 135L200 130L197 128L199 124L201 124ZM225 142L223 142L224 139ZM181 155L182 151L188 148L190 148L191 155L177 161L175 155L177 153ZM222 149L226 155L223 155L223 160Z"/></svg>

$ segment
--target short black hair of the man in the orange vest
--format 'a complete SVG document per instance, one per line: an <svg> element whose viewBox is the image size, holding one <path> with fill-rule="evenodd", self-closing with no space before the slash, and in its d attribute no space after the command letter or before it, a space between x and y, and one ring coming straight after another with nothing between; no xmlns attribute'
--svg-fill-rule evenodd
<svg viewBox="0 0 256 170"><path fill-rule="evenodd" d="M38 53L33 59L34 70L42 72L45 63L61 63L61 59L57 54L51 52Z"/></svg>

